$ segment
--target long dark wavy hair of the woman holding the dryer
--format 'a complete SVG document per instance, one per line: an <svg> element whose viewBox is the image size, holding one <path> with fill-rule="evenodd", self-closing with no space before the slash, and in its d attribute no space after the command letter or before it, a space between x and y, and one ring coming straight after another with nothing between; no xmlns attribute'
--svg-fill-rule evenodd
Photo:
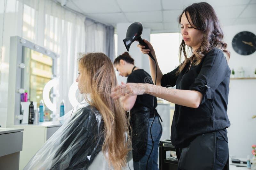
<svg viewBox="0 0 256 170"><path fill-rule="evenodd" d="M223 50L224 53L227 54L227 60L230 58L230 52L226 50L227 43L223 42L223 31L220 28L220 23L217 18L217 15L212 8L212 6L206 2L195 3L188 6L185 10L182 11L178 21L180 23L182 14L185 13L186 18L188 19L188 14L192 23L190 23L189 19L188 22L194 29L201 31L204 35L201 45L193 52L193 55L188 58L186 54L186 44L185 41L182 39L180 44L180 51L179 51L179 59L180 63L182 61L182 54L185 57L184 63L180 64L179 70L177 74L179 74L183 68L186 66L188 62L194 62L194 65L198 65L203 57L204 54L212 50L213 48L220 48ZM193 25L195 26L193 26ZM192 47L188 47L192 51Z"/></svg>

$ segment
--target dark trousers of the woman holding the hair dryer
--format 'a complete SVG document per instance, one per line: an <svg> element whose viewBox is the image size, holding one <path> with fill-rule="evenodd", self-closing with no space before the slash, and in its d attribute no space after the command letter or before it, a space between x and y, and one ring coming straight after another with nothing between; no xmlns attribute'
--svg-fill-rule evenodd
<svg viewBox="0 0 256 170"><path fill-rule="evenodd" d="M178 170L222 170L228 160L228 142L219 131L199 135L187 147L175 149Z"/></svg>

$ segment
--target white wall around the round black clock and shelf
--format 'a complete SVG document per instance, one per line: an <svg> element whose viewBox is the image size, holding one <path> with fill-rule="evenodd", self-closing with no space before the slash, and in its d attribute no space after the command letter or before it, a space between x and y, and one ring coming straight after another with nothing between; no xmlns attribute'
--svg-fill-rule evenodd
<svg viewBox="0 0 256 170"><path fill-rule="evenodd" d="M232 48L232 39L242 31L250 31L256 35L256 25L235 25L224 26L224 41L228 43L228 50L231 52L229 67L235 72L239 67L245 70L245 76L250 75L256 69L256 52L243 56L237 54ZM256 144L255 125L256 119L256 79L230 80L230 91L228 101L228 117L231 126L228 128L229 156L246 158L252 156L251 145Z"/></svg>

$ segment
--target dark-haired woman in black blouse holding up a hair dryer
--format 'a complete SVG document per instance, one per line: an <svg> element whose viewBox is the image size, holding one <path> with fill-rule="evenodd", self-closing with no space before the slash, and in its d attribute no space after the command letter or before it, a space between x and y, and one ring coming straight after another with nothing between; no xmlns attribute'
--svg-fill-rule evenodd
<svg viewBox="0 0 256 170"><path fill-rule="evenodd" d="M180 14L179 24L183 38L179 67L163 75L157 64L156 85L118 85L112 97L151 94L175 103L171 141L179 159L178 169L221 170L228 160L230 52L222 41L223 32L210 4L188 6ZM157 59L152 45L144 42L149 50L138 45L141 52L151 52ZM190 53L186 53L187 49ZM154 78L155 63L149 61ZM166 88L175 85L176 89Z"/></svg>

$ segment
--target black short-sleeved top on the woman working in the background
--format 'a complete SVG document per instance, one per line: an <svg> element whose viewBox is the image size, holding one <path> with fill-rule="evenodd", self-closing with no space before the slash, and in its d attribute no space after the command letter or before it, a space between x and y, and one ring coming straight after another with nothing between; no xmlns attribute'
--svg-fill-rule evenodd
<svg viewBox="0 0 256 170"><path fill-rule="evenodd" d="M151 76L144 71L143 69L138 69L134 70L131 74L128 75L127 77L127 83L150 83L154 84L152 81ZM133 108L138 108L141 106L145 106L150 109L150 116L149 117L154 117L154 108L153 108L153 97L152 95L144 94L144 95L138 95L136 102L134 103ZM157 101L155 97L155 108L157 106ZM132 108L132 109L133 109ZM131 113L132 113L131 109ZM156 111L156 116L157 116L157 111Z"/></svg>

